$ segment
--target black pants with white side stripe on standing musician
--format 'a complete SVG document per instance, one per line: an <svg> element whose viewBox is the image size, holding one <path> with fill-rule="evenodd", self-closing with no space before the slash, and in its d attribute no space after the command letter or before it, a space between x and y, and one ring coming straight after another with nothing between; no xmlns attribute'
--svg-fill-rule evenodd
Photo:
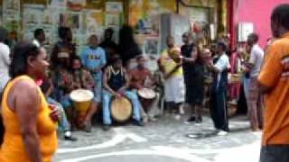
<svg viewBox="0 0 289 162"><path fill-rule="evenodd" d="M226 88L212 90L210 94L210 115L218 130L228 131L228 105Z"/></svg>

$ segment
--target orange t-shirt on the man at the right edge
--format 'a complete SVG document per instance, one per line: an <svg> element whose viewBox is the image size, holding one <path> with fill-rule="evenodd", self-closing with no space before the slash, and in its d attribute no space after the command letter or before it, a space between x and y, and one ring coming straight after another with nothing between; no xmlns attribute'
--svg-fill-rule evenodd
<svg viewBox="0 0 289 162"><path fill-rule="evenodd" d="M289 32L270 45L258 77L265 95L262 145L289 144Z"/></svg>

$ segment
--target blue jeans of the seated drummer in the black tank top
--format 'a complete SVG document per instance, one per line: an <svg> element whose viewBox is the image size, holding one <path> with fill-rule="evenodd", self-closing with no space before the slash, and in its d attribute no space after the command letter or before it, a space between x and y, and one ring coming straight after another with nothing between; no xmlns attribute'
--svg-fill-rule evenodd
<svg viewBox="0 0 289 162"><path fill-rule="evenodd" d="M132 91L126 91L125 93L126 97L133 103L133 119L135 121L141 120L141 103L138 100L138 96L135 92ZM102 91L102 113L103 113L103 122L106 125L111 125L111 115L110 115L110 100L112 97L112 94L107 92L106 90Z"/></svg>

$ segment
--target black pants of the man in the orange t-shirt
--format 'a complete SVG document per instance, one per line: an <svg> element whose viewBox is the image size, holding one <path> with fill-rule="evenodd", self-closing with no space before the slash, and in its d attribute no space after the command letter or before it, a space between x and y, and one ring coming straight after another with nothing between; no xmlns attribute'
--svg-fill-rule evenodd
<svg viewBox="0 0 289 162"><path fill-rule="evenodd" d="M260 162L289 162L289 145L262 147Z"/></svg>

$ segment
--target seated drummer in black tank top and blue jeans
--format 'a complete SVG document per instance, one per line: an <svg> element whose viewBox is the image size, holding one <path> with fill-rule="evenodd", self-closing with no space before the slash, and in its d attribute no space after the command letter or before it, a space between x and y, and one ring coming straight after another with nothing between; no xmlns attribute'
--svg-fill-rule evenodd
<svg viewBox="0 0 289 162"><path fill-rule="evenodd" d="M137 94L128 91L129 77L126 74L125 67L122 66L123 62L121 58L116 55L112 58L112 65L105 69L103 76L103 121L104 130L109 130L111 121L111 112L109 103L113 96L122 97L126 96L133 103L133 119L135 125L144 126L141 121L141 103L138 100Z"/></svg>

